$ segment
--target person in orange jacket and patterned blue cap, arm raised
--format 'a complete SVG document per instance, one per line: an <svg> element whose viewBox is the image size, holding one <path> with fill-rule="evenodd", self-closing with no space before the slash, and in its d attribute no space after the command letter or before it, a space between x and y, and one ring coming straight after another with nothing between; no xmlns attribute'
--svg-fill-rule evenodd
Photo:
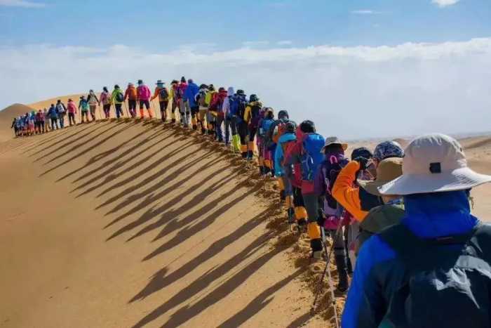
<svg viewBox="0 0 491 328"><path fill-rule="evenodd" d="M374 157L372 160L365 161L365 158L361 158L361 161L354 159L339 173L339 177L336 180L334 187L332 188L332 195L339 204L342 204L344 209L347 209L358 222L363 221L370 209L382 205L379 197L370 195L370 193L358 188L358 185L353 185L353 181L356 181L356 174L360 171L360 162L367 162L366 172L370 173L372 179L377 176L376 168L379 162L386 158L391 157L403 157L404 150L401 145L394 141L385 141L375 147Z"/></svg>

